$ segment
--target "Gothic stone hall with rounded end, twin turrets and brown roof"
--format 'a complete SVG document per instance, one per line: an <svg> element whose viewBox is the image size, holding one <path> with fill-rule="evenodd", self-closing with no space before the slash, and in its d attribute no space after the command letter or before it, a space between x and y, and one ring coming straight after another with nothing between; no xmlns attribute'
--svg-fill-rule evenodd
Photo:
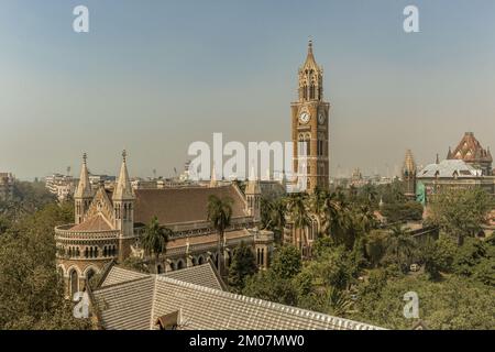
<svg viewBox="0 0 495 352"><path fill-rule="evenodd" d="M218 253L218 233L207 219L208 198L232 199L231 224L226 229L226 253ZM229 265L235 248L252 246L260 268L266 268L273 252L273 233L258 230L260 184L250 180L243 194L234 184L133 189L127 155L113 189L89 182L86 155L74 195L75 221L55 228L57 267L64 276L67 297L85 289L87 282L112 261L145 258L140 239L145 226L157 217L173 231L158 273L195 266L223 257Z"/></svg>

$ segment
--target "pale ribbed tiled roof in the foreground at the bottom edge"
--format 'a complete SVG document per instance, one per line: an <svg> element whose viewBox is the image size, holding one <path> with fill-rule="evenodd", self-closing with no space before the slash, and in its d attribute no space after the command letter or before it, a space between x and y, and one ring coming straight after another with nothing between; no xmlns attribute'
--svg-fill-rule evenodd
<svg viewBox="0 0 495 352"><path fill-rule="evenodd" d="M154 329L158 317L180 311L187 330L375 330L378 327L152 275L96 289L106 329ZM103 304L106 302L106 304Z"/></svg>

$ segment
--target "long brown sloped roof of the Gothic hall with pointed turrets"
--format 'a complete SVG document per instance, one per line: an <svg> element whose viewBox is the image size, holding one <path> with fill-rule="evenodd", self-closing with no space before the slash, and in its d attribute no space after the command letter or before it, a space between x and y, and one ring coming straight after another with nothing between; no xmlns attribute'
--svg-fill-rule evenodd
<svg viewBox="0 0 495 352"><path fill-rule="evenodd" d="M232 217L244 217L244 199L232 185L163 189L135 189L134 221L148 223L156 216L161 224L206 221L208 198L230 197Z"/></svg>

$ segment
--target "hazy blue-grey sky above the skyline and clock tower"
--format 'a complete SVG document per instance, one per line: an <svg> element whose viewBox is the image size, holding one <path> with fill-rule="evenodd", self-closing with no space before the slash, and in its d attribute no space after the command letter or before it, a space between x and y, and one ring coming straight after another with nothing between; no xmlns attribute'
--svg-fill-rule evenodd
<svg viewBox="0 0 495 352"><path fill-rule="evenodd" d="M73 31L73 9L90 32ZM420 33L403 31L419 8ZM183 168L193 141L288 141L308 36L331 173L392 174L465 131L495 146L495 1L0 0L0 170ZM340 167L338 167L340 166Z"/></svg>

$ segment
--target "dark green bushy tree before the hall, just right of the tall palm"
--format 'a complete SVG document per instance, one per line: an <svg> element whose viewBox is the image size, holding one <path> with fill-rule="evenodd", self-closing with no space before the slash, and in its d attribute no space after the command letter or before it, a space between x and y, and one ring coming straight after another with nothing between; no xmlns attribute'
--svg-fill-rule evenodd
<svg viewBox="0 0 495 352"><path fill-rule="evenodd" d="M245 278L256 273L256 258L253 250L244 242L241 242L235 249L232 262L229 266L229 286L238 293L242 292Z"/></svg>

